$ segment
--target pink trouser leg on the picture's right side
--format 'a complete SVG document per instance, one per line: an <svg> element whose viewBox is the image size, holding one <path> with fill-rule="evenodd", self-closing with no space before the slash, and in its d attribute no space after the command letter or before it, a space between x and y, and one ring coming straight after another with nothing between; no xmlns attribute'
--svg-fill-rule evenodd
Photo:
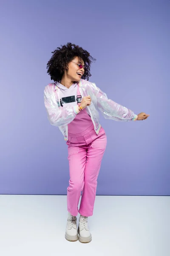
<svg viewBox="0 0 170 256"><path fill-rule="evenodd" d="M104 131L104 130L102 130ZM85 164L84 189L82 192L79 213L83 216L92 216L96 197L97 177L99 175L102 157L107 145L105 132L94 140L87 151L87 163Z"/></svg>

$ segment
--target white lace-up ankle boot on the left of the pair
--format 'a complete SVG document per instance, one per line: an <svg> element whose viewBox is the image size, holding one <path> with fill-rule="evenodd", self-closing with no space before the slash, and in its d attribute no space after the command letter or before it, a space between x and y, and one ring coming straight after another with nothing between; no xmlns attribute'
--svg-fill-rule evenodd
<svg viewBox="0 0 170 256"><path fill-rule="evenodd" d="M68 241L77 241L77 217L73 216L68 212L67 226L65 231L65 239Z"/></svg>

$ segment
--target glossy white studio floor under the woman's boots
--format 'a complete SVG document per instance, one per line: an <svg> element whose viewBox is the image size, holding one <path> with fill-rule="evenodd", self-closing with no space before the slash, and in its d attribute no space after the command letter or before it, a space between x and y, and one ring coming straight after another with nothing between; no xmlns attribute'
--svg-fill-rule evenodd
<svg viewBox="0 0 170 256"><path fill-rule="evenodd" d="M65 195L0 195L0 256L170 256L170 197L96 196L88 244L65 240L66 205Z"/></svg>

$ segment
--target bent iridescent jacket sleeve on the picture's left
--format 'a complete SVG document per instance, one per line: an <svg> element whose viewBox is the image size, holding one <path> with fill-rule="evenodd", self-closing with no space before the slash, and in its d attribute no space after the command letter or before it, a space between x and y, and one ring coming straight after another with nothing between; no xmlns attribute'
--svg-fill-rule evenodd
<svg viewBox="0 0 170 256"><path fill-rule="evenodd" d="M59 107L54 93L49 88L47 85L44 89L44 104L48 120L54 126L68 125L79 113L78 105Z"/></svg>

